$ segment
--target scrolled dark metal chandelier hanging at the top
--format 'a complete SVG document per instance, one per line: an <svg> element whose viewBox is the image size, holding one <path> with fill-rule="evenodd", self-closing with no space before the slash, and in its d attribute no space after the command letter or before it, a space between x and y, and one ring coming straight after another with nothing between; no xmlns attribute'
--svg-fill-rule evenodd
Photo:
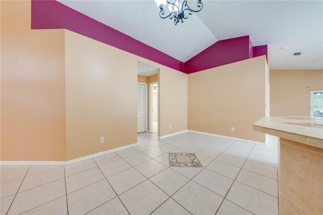
<svg viewBox="0 0 323 215"><path fill-rule="evenodd" d="M188 4L187 0L155 0L155 3L160 9L159 16L161 19L165 19L169 17L170 19L174 18L174 25L176 25L180 20L183 23L183 19L187 19L188 15L192 15L193 12L199 12L203 8L202 0L197 1L197 10L191 9ZM182 3L181 3L182 2ZM168 5L169 14L165 15L165 6Z"/></svg>

